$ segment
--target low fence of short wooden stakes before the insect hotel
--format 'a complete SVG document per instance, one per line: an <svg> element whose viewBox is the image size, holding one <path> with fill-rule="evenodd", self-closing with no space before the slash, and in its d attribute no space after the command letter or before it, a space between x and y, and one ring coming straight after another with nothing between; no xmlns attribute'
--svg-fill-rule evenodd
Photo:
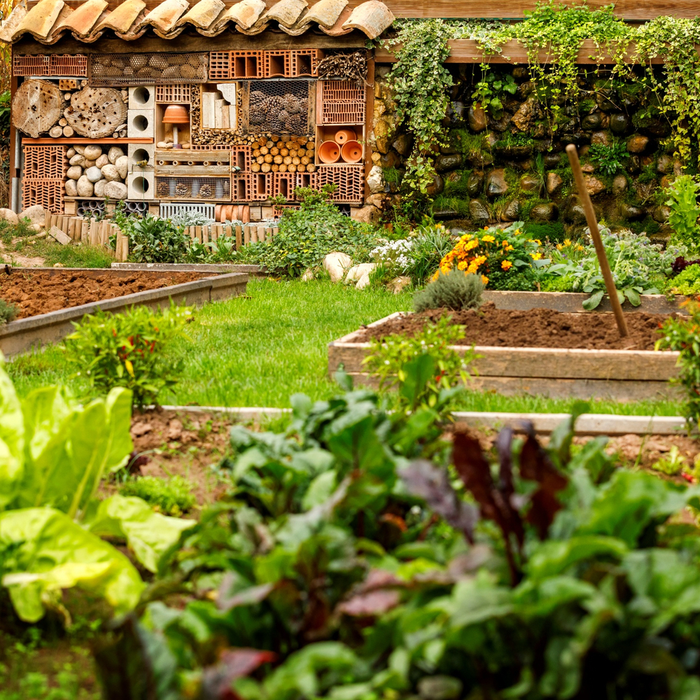
<svg viewBox="0 0 700 700"><path fill-rule="evenodd" d="M44 228L47 232L52 227L64 232L66 236L76 243L87 243L91 246L109 246L109 239L116 236L117 260L127 260L129 257L129 239L123 235L121 229L108 219L96 221L82 216L64 216L62 214L46 214ZM183 230L186 237L190 237L198 243L214 243L220 238L234 237L236 248L247 246L258 241L272 241L279 228L264 223L246 223L244 225L232 225L223 223L211 223L202 226L188 226Z"/></svg>

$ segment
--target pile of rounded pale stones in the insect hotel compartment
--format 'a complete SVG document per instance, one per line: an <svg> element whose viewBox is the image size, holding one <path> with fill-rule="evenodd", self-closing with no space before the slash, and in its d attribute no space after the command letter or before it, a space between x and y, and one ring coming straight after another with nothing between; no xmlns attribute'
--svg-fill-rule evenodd
<svg viewBox="0 0 700 700"><path fill-rule="evenodd" d="M109 197L110 200L127 198L129 158L118 146L73 146L68 149L70 167L66 176L68 197Z"/></svg>

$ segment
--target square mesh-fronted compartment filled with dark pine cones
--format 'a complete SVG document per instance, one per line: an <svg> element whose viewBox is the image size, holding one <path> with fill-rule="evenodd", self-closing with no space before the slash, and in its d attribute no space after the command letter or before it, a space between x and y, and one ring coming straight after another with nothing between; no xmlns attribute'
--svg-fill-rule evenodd
<svg viewBox="0 0 700 700"><path fill-rule="evenodd" d="M251 80L248 104L251 132L309 132L308 80Z"/></svg>

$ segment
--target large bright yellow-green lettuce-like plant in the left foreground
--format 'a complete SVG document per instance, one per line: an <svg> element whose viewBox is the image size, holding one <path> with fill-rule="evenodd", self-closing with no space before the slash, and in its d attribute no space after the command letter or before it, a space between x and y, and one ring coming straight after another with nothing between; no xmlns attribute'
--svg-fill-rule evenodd
<svg viewBox="0 0 700 700"><path fill-rule="evenodd" d="M100 539L126 540L149 570L191 521L154 513L140 498L97 500L106 474L130 455L131 393L79 405L57 386L20 402L0 367L0 584L20 619L50 608L69 622L62 591L77 587L116 612L144 582L127 556Z"/></svg>

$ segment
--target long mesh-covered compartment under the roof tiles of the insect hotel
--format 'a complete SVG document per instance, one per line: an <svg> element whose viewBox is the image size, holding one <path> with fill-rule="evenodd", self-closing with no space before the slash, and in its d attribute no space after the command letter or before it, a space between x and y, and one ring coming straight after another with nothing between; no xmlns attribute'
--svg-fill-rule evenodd
<svg viewBox="0 0 700 700"><path fill-rule="evenodd" d="M93 54L90 85L206 83L207 53Z"/></svg>

